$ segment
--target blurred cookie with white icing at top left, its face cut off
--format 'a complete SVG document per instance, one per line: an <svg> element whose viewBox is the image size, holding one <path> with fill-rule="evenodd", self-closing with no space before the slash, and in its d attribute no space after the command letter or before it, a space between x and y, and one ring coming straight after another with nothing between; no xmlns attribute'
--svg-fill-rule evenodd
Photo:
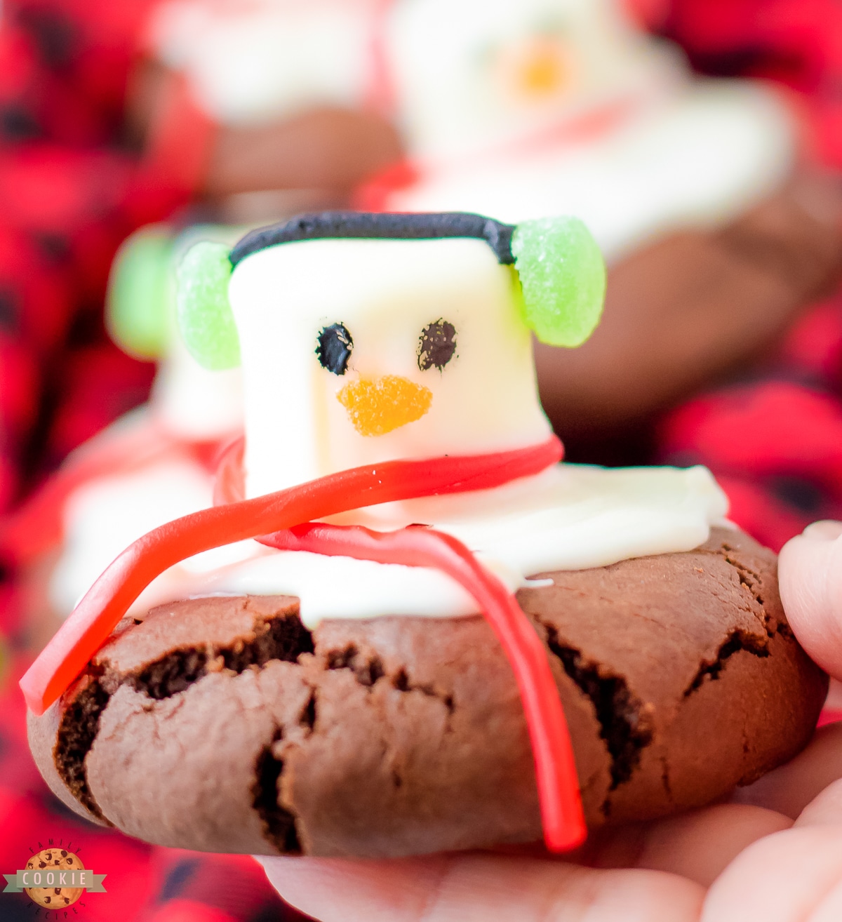
<svg viewBox="0 0 842 922"><path fill-rule="evenodd" d="M157 175L233 222L328 207L400 156L375 104L377 0L157 0L127 93Z"/></svg>

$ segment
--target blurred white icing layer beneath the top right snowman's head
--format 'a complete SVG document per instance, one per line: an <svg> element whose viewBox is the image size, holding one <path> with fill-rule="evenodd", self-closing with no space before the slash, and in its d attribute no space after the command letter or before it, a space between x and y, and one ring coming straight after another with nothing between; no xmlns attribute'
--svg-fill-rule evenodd
<svg viewBox="0 0 842 922"><path fill-rule="evenodd" d="M666 231L734 219L784 181L794 156L789 113L769 90L697 80L598 138L433 167L387 207L511 223L575 214L611 262Z"/></svg>

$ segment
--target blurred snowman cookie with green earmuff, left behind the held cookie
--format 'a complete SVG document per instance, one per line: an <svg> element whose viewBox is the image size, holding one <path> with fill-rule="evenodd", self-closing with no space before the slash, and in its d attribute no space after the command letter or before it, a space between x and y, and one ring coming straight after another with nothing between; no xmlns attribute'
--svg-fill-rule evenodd
<svg viewBox="0 0 842 922"><path fill-rule="evenodd" d="M148 403L69 455L0 522L0 554L18 569L29 644L37 650L126 544L211 502L219 448L242 432L240 370L208 371L185 349L175 272L196 240L241 229L151 225L116 255L106 325L125 352L158 363Z"/></svg>

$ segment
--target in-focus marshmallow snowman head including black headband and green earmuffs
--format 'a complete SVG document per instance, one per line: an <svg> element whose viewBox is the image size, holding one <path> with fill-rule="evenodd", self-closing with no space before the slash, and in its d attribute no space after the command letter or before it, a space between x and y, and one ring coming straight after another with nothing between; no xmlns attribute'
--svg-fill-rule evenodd
<svg viewBox="0 0 842 922"><path fill-rule="evenodd" d="M246 494L393 458L540 443L530 330L575 346L605 273L576 219L325 213L202 243L181 268L185 344L242 362Z"/></svg>

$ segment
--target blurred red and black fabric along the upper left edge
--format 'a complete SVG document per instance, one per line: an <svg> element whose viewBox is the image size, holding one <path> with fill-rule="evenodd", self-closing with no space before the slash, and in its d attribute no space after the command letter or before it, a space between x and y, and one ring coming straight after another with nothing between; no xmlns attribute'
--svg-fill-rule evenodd
<svg viewBox="0 0 842 922"><path fill-rule="evenodd" d="M124 97L138 31L155 0L8 0L0 29L0 511L76 435L65 421L74 372L131 379L101 423L144 398L150 372L108 343L101 303L117 246L186 202L125 144ZM84 359L74 354L80 350ZM122 363L117 371L115 365ZM110 375L113 373L113 379ZM106 393L103 391L103 393Z"/></svg>

